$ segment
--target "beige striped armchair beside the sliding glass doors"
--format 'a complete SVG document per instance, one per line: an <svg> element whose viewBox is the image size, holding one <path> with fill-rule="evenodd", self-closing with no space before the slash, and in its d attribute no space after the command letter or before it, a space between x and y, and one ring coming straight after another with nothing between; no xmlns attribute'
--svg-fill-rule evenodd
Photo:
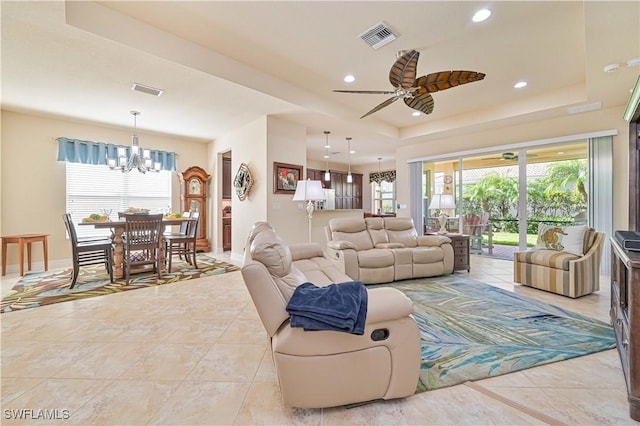
<svg viewBox="0 0 640 426"><path fill-rule="evenodd" d="M513 256L513 280L572 298L598 291L604 238L603 233L587 229L584 256L555 250L517 252Z"/></svg>

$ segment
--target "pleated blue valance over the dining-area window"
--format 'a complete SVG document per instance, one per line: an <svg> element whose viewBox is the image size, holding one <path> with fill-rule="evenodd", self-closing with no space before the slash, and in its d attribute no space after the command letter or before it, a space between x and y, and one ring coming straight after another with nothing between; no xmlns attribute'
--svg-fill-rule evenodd
<svg viewBox="0 0 640 426"><path fill-rule="evenodd" d="M82 141L80 139L69 139L59 137L58 141L58 161L69 163L98 164L107 165L107 158L118 158L118 148L124 148L127 156L131 147L124 145L114 145L104 142ZM168 151L150 150L151 159L162 164L162 170L176 170L176 153Z"/></svg>

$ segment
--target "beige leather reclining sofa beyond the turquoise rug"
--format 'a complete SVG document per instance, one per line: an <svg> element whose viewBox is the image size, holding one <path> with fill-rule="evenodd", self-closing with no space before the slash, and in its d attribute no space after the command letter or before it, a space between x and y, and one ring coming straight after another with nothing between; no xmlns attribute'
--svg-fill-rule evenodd
<svg viewBox="0 0 640 426"><path fill-rule="evenodd" d="M388 283L453 272L451 240L418 236L408 217L331 219L327 256L354 280Z"/></svg>

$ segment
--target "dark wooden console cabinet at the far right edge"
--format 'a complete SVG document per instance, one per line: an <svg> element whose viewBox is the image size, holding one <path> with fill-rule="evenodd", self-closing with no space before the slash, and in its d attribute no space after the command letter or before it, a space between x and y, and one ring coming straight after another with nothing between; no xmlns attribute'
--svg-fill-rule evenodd
<svg viewBox="0 0 640 426"><path fill-rule="evenodd" d="M640 252L611 238L611 323L624 378L629 415L640 421Z"/></svg>

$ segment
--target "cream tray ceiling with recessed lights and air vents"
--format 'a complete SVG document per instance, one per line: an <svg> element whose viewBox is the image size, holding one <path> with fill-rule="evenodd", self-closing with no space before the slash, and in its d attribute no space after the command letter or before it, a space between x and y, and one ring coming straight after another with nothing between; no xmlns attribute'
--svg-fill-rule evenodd
<svg viewBox="0 0 640 426"><path fill-rule="evenodd" d="M471 22L489 6L492 16ZM636 1L2 1L2 107L215 140L266 114L308 128L308 158L390 159L398 146L626 104L640 68ZM384 21L398 38L374 50L359 35ZM398 50L418 75L451 69L483 81L433 94L430 115L403 102L359 117L390 90ZM621 64L613 73L603 67ZM344 83L347 73L356 81ZM513 84L526 80L520 90ZM133 92L133 82L163 89Z"/></svg>

